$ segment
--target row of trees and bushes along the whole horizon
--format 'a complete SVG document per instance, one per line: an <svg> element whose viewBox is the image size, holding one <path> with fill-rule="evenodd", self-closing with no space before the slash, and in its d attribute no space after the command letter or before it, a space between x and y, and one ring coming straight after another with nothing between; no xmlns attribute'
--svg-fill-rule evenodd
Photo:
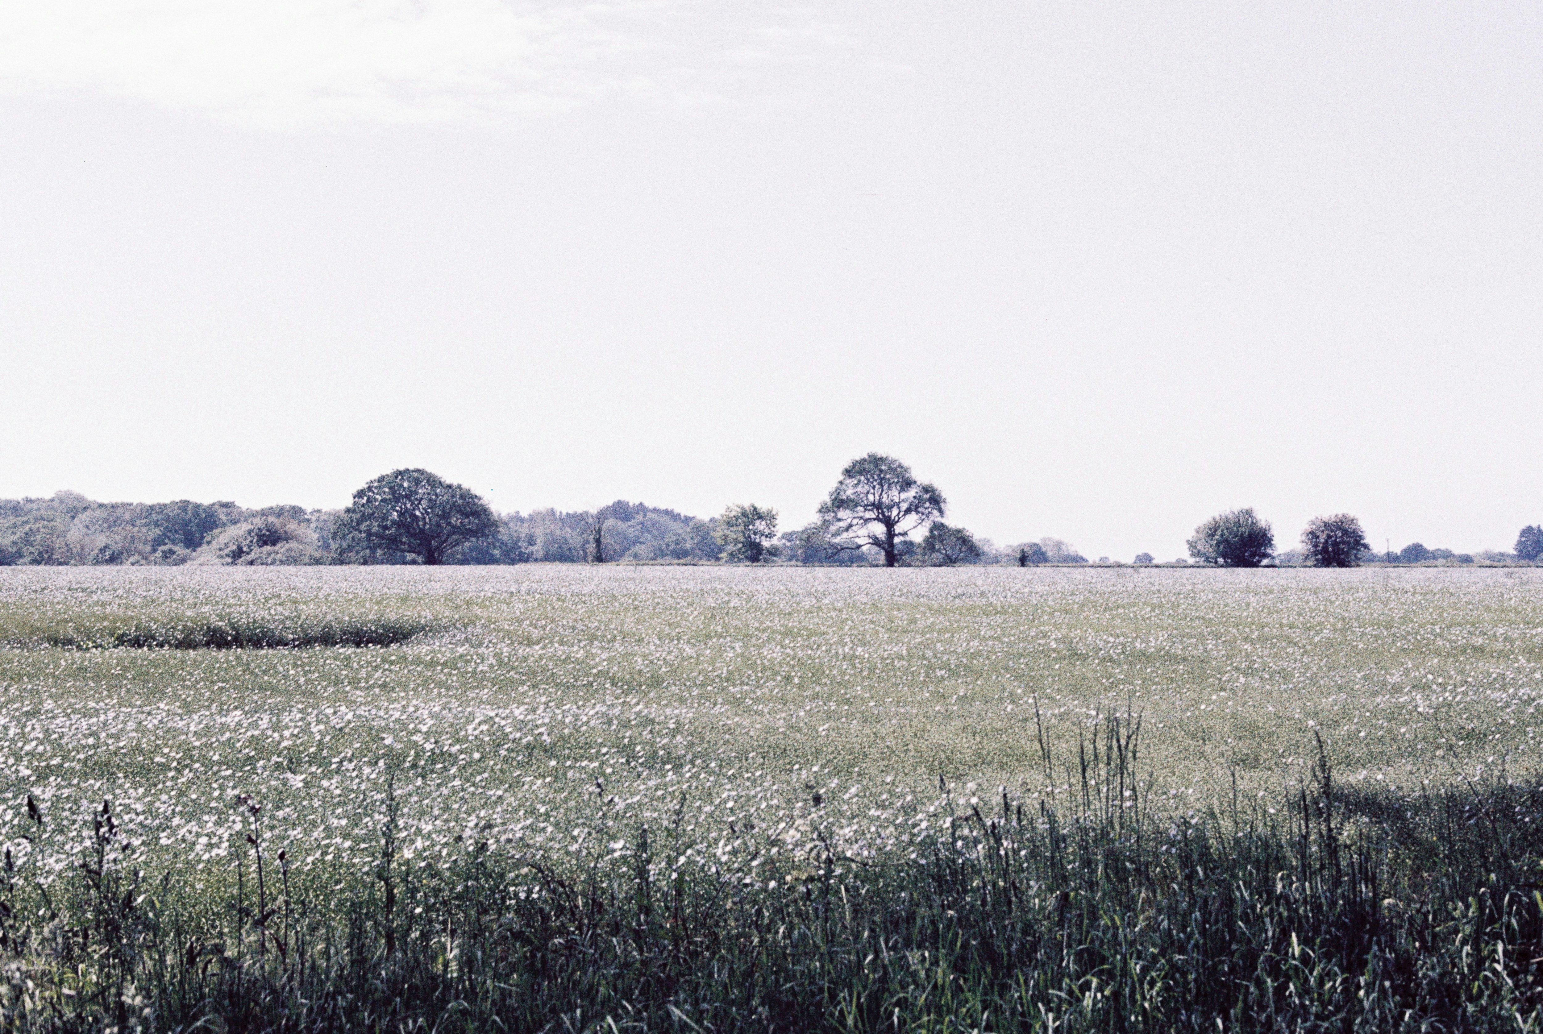
<svg viewBox="0 0 1543 1034"><path fill-rule="evenodd" d="M778 512L738 503L713 519L617 500L594 511L497 514L463 485L398 469L361 486L344 509L241 508L231 502L97 503L77 492L0 500L0 565L306 565L306 563L608 563L728 562L883 566L1088 563L1046 537L998 548L944 522L947 500L895 457L852 460L809 525L781 532ZM1350 514L1315 517L1301 548L1276 551L1253 508L1217 514L1173 563L1208 566L1367 562L1526 562L1543 557L1543 526L1521 529L1514 552L1478 557L1410 543L1375 552ZM1099 557L1108 563L1108 557ZM1136 565L1151 565L1148 552Z"/></svg>

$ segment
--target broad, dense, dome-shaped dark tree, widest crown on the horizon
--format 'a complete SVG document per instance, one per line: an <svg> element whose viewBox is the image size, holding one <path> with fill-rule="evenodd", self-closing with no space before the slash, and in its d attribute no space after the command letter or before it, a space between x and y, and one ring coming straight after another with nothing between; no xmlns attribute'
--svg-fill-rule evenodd
<svg viewBox="0 0 1543 1034"><path fill-rule="evenodd" d="M443 563L451 549L498 531L497 515L480 495L417 468L369 482L353 494L338 525L372 546L406 552L423 563Z"/></svg>

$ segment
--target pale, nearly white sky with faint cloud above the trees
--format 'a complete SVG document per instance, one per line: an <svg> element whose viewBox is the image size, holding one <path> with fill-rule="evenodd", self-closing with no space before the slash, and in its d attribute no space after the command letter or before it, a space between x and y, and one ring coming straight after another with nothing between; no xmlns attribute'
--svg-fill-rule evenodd
<svg viewBox="0 0 1543 1034"><path fill-rule="evenodd" d="M0 495L1543 522L1543 8L0 0Z"/></svg>

